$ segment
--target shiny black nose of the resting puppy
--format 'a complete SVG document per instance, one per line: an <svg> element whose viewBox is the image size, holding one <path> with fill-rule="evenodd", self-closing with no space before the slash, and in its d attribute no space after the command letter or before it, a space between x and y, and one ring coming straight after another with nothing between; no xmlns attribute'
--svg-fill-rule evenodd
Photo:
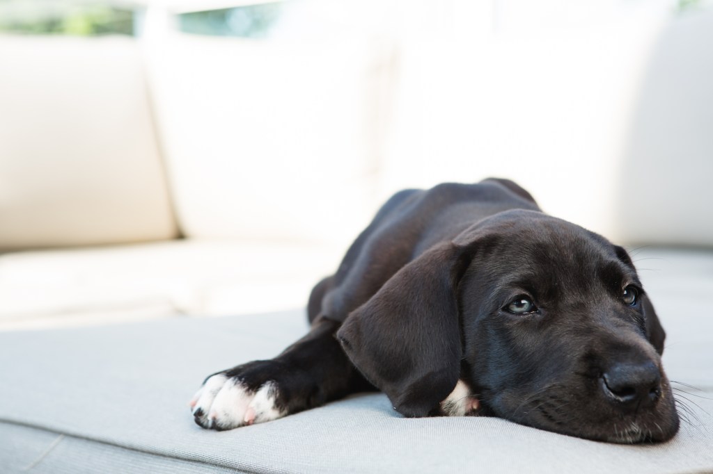
<svg viewBox="0 0 713 474"><path fill-rule="evenodd" d="M661 396L661 372L653 362L615 364L602 375L605 394L627 407L642 407Z"/></svg>

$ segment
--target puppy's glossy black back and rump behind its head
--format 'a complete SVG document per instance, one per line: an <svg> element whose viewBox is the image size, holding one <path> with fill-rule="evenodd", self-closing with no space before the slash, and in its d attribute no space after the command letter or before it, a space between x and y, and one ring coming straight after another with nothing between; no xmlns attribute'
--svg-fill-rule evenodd
<svg viewBox="0 0 713 474"><path fill-rule="evenodd" d="M309 321L320 314L344 321L394 273L431 246L509 209L540 210L528 191L508 179L400 191L356 238L337 273L314 287L307 305Z"/></svg>

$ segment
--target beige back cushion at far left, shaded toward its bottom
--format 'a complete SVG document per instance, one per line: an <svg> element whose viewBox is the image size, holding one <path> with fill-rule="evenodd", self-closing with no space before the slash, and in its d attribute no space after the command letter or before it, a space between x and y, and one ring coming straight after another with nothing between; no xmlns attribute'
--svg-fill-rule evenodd
<svg viewBox="0 0 713 474"><path fill-rule="evenodd" d="M176 234L130 38L0 36L0 249Z"/></svg>

